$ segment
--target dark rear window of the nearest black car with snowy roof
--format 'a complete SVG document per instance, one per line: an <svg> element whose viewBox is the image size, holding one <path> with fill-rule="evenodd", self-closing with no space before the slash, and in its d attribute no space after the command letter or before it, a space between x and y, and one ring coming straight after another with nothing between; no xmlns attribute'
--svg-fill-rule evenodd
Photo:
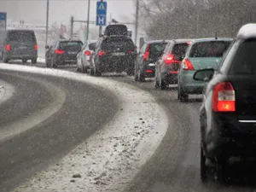
<svg viewBox="0 0 256 192"><path fill-rule="evenodd" d="M256 74L256 39L250 39L237 50L232 61L230 73L234 75L255 75Z"/></svg>

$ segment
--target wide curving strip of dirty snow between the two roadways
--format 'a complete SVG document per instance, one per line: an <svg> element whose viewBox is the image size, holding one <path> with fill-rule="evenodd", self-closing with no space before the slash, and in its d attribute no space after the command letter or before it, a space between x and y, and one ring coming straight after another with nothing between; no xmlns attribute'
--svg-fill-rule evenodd
<svg viewBox="0 0 256 192"><path fill-rule="evenodd" d="M106 78L56 69L1 65L0 69L43 73L111 90L121 106L108 125L56 165L38 172L14 191L121 191L154 154L168 119L148 92Z"/></svg>

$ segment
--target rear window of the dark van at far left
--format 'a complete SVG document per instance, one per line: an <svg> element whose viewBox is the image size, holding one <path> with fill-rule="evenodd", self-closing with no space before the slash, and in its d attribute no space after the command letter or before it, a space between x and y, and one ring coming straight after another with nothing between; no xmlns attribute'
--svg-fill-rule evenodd
<svg viewBox="0 0 256 192"><path fill-rule="evenodd" d="M32 31L10 31L8 39L12 42L35 42L36 36Z"/></svg>

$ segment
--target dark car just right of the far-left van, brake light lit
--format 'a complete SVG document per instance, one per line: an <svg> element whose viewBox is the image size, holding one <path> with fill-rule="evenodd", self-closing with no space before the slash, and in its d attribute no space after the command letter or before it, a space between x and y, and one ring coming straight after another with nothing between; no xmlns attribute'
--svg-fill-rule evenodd
<svg viewBox="0 0 256 192"><path fill-rule="evenodd" d="M45 49L45 62L47 67L77 64L77 55L82 49L83 42L79 40L59 40L53 42Z"/></svg>

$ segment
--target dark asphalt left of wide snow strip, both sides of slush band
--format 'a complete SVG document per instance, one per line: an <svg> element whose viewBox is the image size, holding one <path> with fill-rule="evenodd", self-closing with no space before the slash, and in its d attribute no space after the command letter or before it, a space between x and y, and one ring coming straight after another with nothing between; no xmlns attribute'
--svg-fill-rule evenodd
<svg viewBox="0 0 256 192"><path fill-rule="evenodd" d="M50 87L40 82L54 84L66 94L61 109L49 119L11 139L0 140L0 191L4 192L84 142L113 118L119 105L111 93L68 79L3 71L0 79L15 86L14 96L0 106L0 131L43 110L55 99Z"/></svg>

